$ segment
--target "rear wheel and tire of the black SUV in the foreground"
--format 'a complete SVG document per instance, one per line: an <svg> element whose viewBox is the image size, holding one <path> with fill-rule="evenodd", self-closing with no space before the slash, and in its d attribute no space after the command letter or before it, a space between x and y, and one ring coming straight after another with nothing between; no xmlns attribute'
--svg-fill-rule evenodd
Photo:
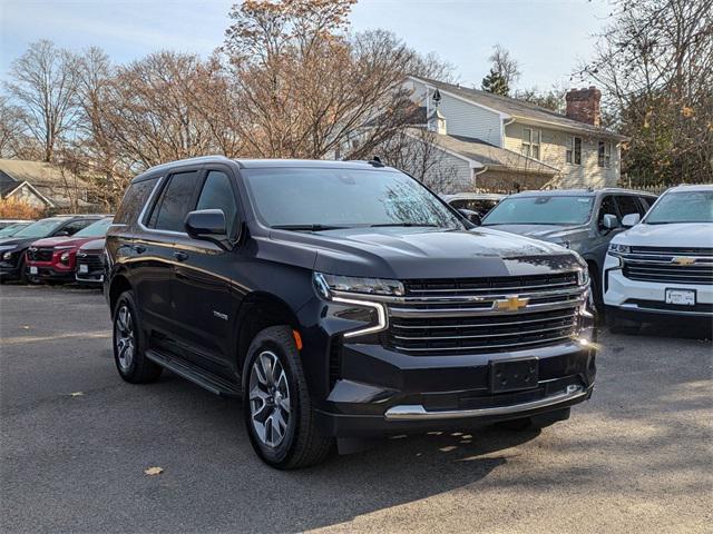
<svg viewBox="0 0 713 534"><path fill-rule="evenodd" d="M130 384L155 382L163 367L145 356L146 342L131 291L124 291L113 314L114 363L119 376Z"/></svg>

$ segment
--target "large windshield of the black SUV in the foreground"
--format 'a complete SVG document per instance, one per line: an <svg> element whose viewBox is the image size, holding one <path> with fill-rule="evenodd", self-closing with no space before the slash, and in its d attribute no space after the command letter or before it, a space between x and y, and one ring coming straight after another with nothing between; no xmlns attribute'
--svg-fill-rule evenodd
<svg viewBox="0 0 713 534"><path fill-rule="evenodd" d="M463 228L438 197L402 172L271 168L243 176L258 219L273 228Z"/></svg>

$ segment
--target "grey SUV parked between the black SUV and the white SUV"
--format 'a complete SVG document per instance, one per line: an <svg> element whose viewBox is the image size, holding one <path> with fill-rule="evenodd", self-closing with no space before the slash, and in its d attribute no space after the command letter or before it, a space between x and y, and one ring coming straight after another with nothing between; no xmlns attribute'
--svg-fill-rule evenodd
<svg viewBox="0 0 713 534"><path fill-rule="evenodd" d="M563 245L589 266L592 291L603 308L602 268L609 241L624 230L622 218L641 217L654 195L626 189L563 189L510 195L482 219L482 226Z"/></svg>

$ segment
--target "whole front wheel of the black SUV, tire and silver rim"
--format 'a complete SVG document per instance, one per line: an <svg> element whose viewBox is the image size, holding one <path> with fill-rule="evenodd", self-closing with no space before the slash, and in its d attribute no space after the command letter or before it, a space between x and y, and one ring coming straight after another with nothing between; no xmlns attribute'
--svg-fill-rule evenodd
<svg viewBox="0 0 713 534"><path fill-rule="evenodd" d="M253 448L267 465L296 469L330 455L334 441L316 429L300 353L289 326L260 332L243 365L243 411Z"/></svg>

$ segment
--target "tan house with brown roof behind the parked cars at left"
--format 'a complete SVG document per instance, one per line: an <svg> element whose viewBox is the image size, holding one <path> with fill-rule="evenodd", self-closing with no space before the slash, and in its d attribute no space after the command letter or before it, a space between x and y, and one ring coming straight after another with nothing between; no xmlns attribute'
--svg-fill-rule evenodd
<svg viewBox="0 0 713 534"><path fill-rule="evenodd" d="M48 212L88 211L89 185L45 161L0 159L0 198L16 198Z"/></svg>

